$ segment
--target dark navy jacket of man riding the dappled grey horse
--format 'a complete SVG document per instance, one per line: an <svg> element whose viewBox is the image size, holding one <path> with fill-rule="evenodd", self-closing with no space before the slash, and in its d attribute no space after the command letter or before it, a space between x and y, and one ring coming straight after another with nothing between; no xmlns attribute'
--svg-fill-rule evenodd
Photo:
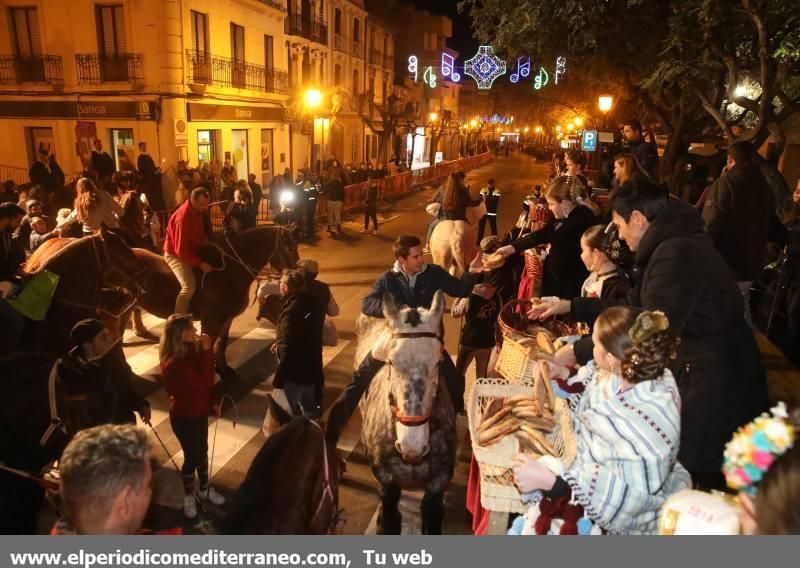
<svg viewBox="0 0 800 568"><path fill-rule="evenodd" d="M475 286L475 278L465 272L461 279L451 276L436 264L426 264L417 274L414 288L409 284L406 274L395 268L384 272L372 286L370 293L361 300L361 313L374 318L383 317L383 294L388 292L397 306L430 309L433 295L442 290L455 298L466 298Z"/></svg>

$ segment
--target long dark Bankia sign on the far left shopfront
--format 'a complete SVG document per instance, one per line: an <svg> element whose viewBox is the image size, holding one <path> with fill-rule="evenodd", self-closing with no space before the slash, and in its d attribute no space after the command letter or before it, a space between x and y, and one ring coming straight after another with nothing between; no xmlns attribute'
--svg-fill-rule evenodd
<svg viewBox="0 0 800 568"><path fill-rule="evenodd" d="M156 101L0 101L4 118L156 120Z"/></svg>

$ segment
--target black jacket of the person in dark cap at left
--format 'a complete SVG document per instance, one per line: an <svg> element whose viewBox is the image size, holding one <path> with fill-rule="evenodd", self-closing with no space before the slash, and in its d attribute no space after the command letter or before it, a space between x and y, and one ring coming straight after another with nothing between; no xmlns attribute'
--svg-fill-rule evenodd
<svg viewBox="0 0 800 568"><path fill-rule="evenodd" d="M72 429L99 424L135 424L134 411L149 406L131 389L133 371L122 343L100 359L86 359L79 347L56 362L58 392L64 406L61 418ZM82 396L88 394L89 396Z"/></svg>

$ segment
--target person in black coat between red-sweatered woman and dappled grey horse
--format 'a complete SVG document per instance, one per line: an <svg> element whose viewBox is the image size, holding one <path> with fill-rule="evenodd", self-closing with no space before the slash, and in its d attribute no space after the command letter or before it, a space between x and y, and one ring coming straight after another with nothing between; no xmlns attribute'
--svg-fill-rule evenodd
<svg viewBox="0 0 800 568"><path fill-rule="evenodd" d="M278 358L274 388L283 389L295 414L322 415L322 326L325 313L317 298L305 288L303 270L281 277L283 309L273 352Z"/></svg>

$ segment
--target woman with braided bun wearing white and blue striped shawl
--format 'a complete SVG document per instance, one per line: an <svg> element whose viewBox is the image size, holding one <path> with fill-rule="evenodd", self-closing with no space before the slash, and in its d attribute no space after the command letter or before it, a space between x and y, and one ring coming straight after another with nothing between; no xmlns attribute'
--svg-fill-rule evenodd
<svg viewBox="0 0 800 568"><path fill-rule="evenodd" d="M561 534L589 532L587 521L580 529L575 526L581 516L610 533L655 533L664 501L689 487L689 474L677 458L680 395L667 369L677 341L667 317L609 308L597 319L592 339L594 360L578 373L586 389L569 401L575 461L521 454L514 468L522 492L539 490L544 496L521 521L523 533L558 530L539 521L542 511L558 508L571 509L571 526L561 524ZM557 366L553 373L566 375ZM572 502L583 510L575 510Z"/></svg>

